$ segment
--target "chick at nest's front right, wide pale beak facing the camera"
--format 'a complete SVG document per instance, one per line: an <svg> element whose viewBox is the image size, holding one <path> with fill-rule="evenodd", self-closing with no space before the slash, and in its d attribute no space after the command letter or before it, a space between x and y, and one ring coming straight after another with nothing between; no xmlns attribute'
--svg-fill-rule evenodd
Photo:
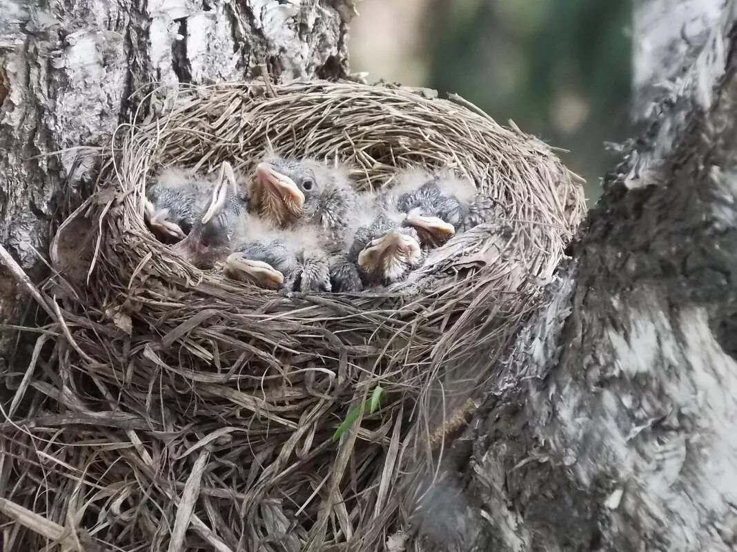
<svg viewBox="0 0 737 552"><path fill-rule="evenodd" d="M404 280L425 260L413 227L402 226L394 194L366 194L354 221L348 258L367 286L387 286Z"/></svg>

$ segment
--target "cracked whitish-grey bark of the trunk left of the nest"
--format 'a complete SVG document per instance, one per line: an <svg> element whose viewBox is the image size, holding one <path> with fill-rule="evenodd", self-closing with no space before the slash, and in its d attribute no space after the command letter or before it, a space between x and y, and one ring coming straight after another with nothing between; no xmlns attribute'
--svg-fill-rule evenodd
<svg viewBox="0 0 737 552"><path fill-rule="evenodd" d="M340 76L352 0L49 0L0 3L0 243L38 277L49 224L94 174L150 82ZM58 153L57 153L58 152ZM0 324L21 302L0 274ZM0 342L0 355L4 349Z"/></svg>

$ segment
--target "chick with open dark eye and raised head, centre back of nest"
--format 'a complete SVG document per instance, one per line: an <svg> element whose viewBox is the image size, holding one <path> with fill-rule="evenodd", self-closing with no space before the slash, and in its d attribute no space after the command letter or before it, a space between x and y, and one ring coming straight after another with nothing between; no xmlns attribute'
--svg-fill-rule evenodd
<svg viewBox="0 0 737 552"><path fill-rule="evenodd" d="M248 188L254 211L276 227L314 224L329 239L342 239L356 194L340 169L312 159L270 157L256 166Z"/></svg>

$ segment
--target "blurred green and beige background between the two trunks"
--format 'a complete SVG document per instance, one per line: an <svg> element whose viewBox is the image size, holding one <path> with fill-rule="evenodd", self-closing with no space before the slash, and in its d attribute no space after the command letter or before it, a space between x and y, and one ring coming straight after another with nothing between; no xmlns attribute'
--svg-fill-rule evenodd
<svg viewBox="0 0 737 552"><path fill-rule="evenodd" d="M362 0L352 71L455 92L510 119L587 180L587 199L632 135L630 6L625 0Z"/></svg>

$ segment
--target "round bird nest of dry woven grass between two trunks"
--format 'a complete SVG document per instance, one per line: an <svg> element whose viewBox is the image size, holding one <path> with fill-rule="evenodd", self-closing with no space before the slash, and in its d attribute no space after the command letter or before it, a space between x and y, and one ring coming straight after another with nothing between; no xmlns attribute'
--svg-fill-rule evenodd
<svg viewBox="0 0 737 552"><path fill-rule="evenodd" d="M55 322L11 409L25 404L27 425L4 437L17 481L4 496L37 514L15 549L409 549L427 474L564 255L581 188L542 142L427 91L252 82L155 97L158 115L119 128L52 244ZM256 289L147 230L162 167L248 172L269 149L346 163L361 190L450 168L499 216L357 294Z"/></svg>

